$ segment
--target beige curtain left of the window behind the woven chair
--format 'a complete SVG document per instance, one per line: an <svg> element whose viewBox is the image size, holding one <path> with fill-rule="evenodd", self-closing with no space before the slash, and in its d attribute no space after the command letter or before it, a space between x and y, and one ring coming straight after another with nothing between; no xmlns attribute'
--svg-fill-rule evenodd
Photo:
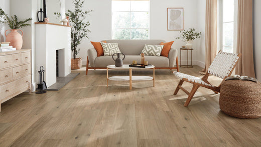
<svg viewBox="0 0 261 147"><path fill-rule="evenodd" d="M201 74L207 72L217 52L217 0L206 1L205 68Z"/></svg>

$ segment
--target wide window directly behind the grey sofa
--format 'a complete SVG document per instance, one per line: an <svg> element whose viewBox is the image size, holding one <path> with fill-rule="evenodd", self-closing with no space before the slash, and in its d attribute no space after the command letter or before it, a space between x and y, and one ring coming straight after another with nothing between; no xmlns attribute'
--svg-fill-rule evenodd
<svg viewBox="0 0 261 147"><path fill-rule="evenodd" d="M112 1L112 39L149 39L149 1Z"/></svg>

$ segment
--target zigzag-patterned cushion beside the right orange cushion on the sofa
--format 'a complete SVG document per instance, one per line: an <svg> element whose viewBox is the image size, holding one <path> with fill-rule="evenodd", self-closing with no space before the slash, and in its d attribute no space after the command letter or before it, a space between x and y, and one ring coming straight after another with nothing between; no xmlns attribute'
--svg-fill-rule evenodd
<svg viewBox="0 0 261 147"><path fill-rule="evenodd" d="M145 45L142 53L147 56L161 56L164 45Z"/></svg>

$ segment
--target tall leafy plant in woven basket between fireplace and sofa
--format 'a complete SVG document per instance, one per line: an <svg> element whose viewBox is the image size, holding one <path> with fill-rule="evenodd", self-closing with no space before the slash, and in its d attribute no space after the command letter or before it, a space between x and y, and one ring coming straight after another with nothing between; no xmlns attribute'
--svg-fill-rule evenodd
<svg viewBox="0 0 261 147"><path fill-rule="evenodd" d="M67 10L68 13L65 13L66 16L70 17L71 28L71 50L73 58L71 59L71 69L80 69L82 65L82 59L76 58L77 54L80 51L78 46L81 44L83 38L89 38L87 33L90 30L87 27L90 25L86 21L86 16L92 11L83 11L84 0L74 0L74 11Z"/></svg>

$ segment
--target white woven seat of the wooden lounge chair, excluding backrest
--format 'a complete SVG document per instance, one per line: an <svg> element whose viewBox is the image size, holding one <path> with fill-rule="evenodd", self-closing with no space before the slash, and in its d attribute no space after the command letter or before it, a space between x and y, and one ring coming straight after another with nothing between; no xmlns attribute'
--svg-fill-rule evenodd
<svg viewBox="0 0 261 147"><path fill-rule="evenodd" d="M183 80L183 78L185 79L188 79L189 81L191 82L195 82L195 83L198 83L198 84L202 84L202 85L206 85L206 86L209 86L209 87L215 87L211 84L208 84L206 82L204 82L202 79L198 78L198 77L194 77L194 76L191 76L191 75L187 75L187 74L184 74L184 73L181 73L181 72L173 72L173 74L179 78L180 80Z"/></svg>

